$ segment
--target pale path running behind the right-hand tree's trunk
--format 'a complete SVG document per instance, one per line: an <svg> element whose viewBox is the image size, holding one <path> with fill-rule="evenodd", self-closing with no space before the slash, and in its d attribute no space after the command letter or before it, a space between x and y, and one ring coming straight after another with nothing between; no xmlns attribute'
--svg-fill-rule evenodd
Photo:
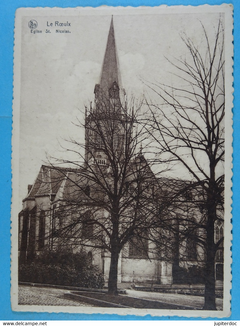
<svg viewBox="0 0 240 326"><path fill-rule="evenodd" d="M127 296L138 299L146 299L159 301L169 304L179 304L185 305L194 308L202 308L204 305L204 297L198 297L195 295L184 295L184 294L172 294L172 293L159 293L159 292L145 292L145 291L136 291L128 290ZM223 300L216 299L217 309L222 310Z"/></svg>

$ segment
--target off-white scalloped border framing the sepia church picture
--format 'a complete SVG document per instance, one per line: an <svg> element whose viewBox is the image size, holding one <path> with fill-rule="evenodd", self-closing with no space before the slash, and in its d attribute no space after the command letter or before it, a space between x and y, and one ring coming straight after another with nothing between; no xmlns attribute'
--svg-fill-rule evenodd
<svg viewBox="0 0 240 326"><path fill-rule="evenodd" d="M157 310L157 309L123 309L72 306L18 305L18 185L19 185L19 121L20 121L20 57L21 57L21 20L23 16L74 16L74 15L145 15L169 13L225 13L225 215L224 215L224 296L223 311L201 310ZM13 82L13 131L12 131L12 205L11 205L11 306L14 311L31 312L68 312L68 313L101 313L118 315L145 316L185 316L185 317L228 317L231 314L231 204L232 204L232 108L233 108L233 7L221 6L171 6L159 7L77 7L77 8L19 8L15 17L14 41L14 82Z"/></svg>

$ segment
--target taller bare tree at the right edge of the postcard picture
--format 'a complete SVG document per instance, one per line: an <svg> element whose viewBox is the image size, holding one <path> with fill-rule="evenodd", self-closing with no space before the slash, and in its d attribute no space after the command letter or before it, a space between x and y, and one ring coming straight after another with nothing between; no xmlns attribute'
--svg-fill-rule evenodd
<svg viewBox="0 0 240 326"><path fill-rule="evenodd" d="M201 24L201 23L200 23ZM146 99L151 111L148 130L154 141L158 162L169 169L182 168L182 177L191 181L188 188L198 194L202 214L192 229L203 229L206 252L205 305L216 310L215 255L223 237L215 243L216 221L222 221L224 179L224 28L220 17L215 33L208 35L201 24L199 44L186 33L182 41L186 54L172 63L176 84L148 84L160 98L160 104ZM214 34L214 36L213 36ZM182 191L179 197L182 196ZM200 200L201 198L201 200ZM186 200L187 202L187 200ZM179 221L180 224L183 222ZM184 222L186 223L186 222ZM168 223L169 224L169 223ZM195 226L194 226L195 224ZM183 234L188 239L193 232ZM205 237L205 239L204 239ZM201 240L201 241L200 241Z"/></svg>

